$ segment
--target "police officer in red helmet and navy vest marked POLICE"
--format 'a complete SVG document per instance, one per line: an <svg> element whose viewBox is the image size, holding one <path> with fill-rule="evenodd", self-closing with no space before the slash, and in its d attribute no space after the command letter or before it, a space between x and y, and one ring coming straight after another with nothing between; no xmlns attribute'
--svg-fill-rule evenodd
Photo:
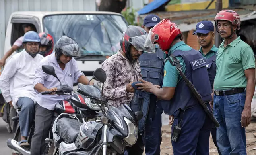
<svg viewBox="0 0 256 155"><path fill-rule="evenodd" d="M186 78L196 87L208 108L211 108L209 101L212 100L212 89L207 63L198 51L181 41L181 36L180 29L169 19L163 19L150 30L144 47L156 42L169 56L164 66L163 87L157 88L143 79L140 80L143 83L136 86L158 98L171 100L162 106L165 113L174 116L171 133L174 155L209 155L212 121L192 95L175 66L177 63L182 66Z"/></svg>

